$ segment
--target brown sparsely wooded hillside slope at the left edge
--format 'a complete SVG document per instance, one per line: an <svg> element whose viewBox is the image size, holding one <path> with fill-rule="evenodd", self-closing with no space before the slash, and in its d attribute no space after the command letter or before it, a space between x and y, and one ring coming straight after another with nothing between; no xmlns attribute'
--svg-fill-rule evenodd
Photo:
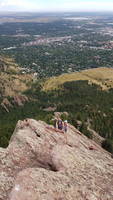
<svg viewBox="0 0 113 200"><path fill-rule="evenodd" d="M12 58L0 57L0 96L13 97L29 89L34 76L22 73Z"/></svg>

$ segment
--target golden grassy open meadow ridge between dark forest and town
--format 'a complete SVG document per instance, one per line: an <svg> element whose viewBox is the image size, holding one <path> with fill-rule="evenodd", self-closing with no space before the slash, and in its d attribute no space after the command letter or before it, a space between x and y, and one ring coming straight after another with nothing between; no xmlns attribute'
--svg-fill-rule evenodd
<svg viewBox="0 0 113 200"><path fill-rule="evenodd" d="M48 79L43 86L44 90L58 89L65 82L88 80L89 84L95 83L100 85L103 90L113 88L113 69L112 68L94 68L83 70L81 72L74 72L70 74L63 74L58 77Z"/></svg>

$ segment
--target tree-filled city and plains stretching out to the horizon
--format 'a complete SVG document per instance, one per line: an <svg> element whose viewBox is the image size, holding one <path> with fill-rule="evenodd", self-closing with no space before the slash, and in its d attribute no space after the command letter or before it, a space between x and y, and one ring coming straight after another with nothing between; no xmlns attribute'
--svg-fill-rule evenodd
<svg viewBox="0 0 113 200"><path fill-rule="evenodd" d="M39 77L112 67L112 19L112 13L1 15L0 54Z"/></svg>

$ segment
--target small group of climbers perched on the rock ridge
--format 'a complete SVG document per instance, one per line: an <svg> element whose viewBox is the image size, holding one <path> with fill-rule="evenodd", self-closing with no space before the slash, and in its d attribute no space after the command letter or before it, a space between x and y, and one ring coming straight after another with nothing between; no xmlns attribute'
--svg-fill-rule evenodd
<svg viewBox="0 0 113 200"><path fill-rule="evenodd" d="M54 119L54 128L58 128L61 131L67 132L67 120L62 121L62 119Z"/></svg>

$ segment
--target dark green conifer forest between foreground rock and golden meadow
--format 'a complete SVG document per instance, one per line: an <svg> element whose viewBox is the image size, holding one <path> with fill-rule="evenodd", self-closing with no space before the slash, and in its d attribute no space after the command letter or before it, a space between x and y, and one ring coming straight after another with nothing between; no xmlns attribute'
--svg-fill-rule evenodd
<svg viewBox="0 0 113 200"><path fill-rule="evenodd" d="M0 146L6 147L18 120L34 118L51 124L53 112L44 111L48 107L56 107L58 112L68 112L69 116L62 116L77 128L77 121L81 121L79 130L92 138L87 130L90 127L105 138L102 146L113 153L113 89L103 91L97 85L89 85L87 81L66 82L61 88L44 92L37 82L24 93L32 101L24 107L14 106L6 113L0 109Z"/></svg>

